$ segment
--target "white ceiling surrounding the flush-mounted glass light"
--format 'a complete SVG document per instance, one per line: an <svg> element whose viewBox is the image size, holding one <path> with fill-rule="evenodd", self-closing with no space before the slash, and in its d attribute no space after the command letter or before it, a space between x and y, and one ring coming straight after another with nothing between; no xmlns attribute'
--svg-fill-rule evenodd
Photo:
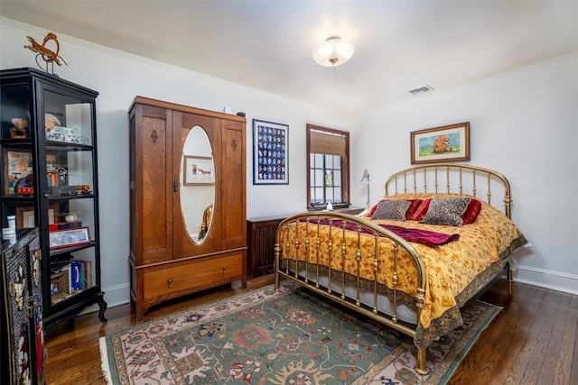
<svg viewBox="0 0 578 385"><path fill-rule="evenodd" d="M578 1L2 0L0 14L346 115L578 51ZM331 34L356 46L337 68L312 60Z"/></svg>

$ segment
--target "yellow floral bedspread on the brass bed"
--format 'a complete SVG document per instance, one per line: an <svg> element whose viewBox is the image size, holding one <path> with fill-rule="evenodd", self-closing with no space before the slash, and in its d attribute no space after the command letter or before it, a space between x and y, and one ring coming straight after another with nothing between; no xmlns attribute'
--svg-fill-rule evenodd
<svg viewBox="0 0 578 385"><path fill-rule="evenodd" d="M432 194L398 195L396 199L433 197ZM447 197L447 195L445 195ZM366 218L367 219L367 218ZM415 221L371 221L374 224L396 225L412 229L429 230L443 234L460 234L460 239L439 247L429 247L419 243L410 243L424 261L427 271L427 285L424 294L424 308L417 327L415 344L425 347L439 335L444 335L461 325L459 307L479 289L479 285L489 277L503 269L502 259L507 257L518 246L526 243L506 215L495 207L482 202L482 208L477 220L471 225L461 227L444 225L422 225ZM331 227L331 254L329 239ZM290 227L291 228L291 227ZM320 229L319 235L318 228ZM356 232L345 232L343 246L343 231L339 227L316 225L310 223L299 225L299 251L295 251L295 232L288 232L289 250L286 250L287 233L281 232L281 258L289 252L291 258L327 267L331 270L344 269L351 276L358 275L357 250L359 242L359 276L373 281L374 271L374 236L362 234L358 241ZM305 237L305 234L308 234ZM317 239L319 236L319 240ZM309 239L306 246L305 239ZM319 243L318 243L319 242ZM319 244L319 250L316 245ZM393 241L384 237L378 238L378 283L393 288ZM405 251L397 260L397 289L408 296L416 294L416 269L412 259ZM345 252L345 258L342 258ZM307 257L307 258L306 258ZM290 264L291 266L291 264ZM403 297L401 298L403 300ZM415 308L412 300L407 298L406 305Z"/></svg>

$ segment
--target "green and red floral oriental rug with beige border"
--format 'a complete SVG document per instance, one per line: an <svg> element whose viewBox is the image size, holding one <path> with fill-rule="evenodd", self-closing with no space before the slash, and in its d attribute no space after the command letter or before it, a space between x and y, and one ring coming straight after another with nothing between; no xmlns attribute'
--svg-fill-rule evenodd
<svg viewBox="0 0 578 385"><path fill-rule="evenodd" d="M414 371L412 338L284 281L100 339L108 384L443 384L500 307L477 301Z"/></svg>

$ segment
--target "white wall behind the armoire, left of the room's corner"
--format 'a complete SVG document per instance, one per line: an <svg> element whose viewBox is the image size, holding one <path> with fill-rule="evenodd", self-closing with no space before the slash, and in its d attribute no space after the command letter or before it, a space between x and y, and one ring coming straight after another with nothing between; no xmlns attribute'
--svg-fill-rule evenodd
<svg viewBox="0 0 578 385"><path fill-rule="evenodd" d="M0 18L0 69L36 68L26 36L42 41L49 31ZM231 107L247 114L247 216L294 214L305 210L307 173L305 124L349 131L351 121L284 97L218 78L144 60L87 41L60 35L61 56L68 67L61 77L97 90L98 188L102 287L108 306L129 300L128 115L135 96L191 105L213 111ZM4 118L4 117L3 117ZM252 119L289 125L289 185L253 186Z"/></svg>

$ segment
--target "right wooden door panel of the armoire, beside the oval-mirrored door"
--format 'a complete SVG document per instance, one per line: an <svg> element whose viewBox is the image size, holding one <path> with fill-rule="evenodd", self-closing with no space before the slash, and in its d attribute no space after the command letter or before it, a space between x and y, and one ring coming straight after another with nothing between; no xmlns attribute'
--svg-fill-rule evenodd
<svg viewBox="0 0 578 385"><path fill-rule="evenodd" d="M225 248L247 246L245 130L240 122L222 121L223 238ZM242 204L239 204L242 203Z"/></svg>

